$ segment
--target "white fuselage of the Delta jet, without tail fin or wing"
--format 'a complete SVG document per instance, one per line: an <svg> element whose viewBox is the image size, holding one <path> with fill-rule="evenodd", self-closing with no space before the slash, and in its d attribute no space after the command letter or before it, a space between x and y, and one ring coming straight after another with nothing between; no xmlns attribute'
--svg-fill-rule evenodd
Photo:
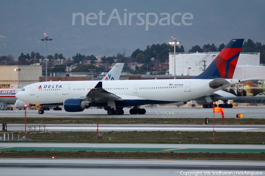
<svg viewBox="0 0 265 176"><path fill-rule="evenodd" d="M217 90L209 87L213 79L157 79L102 81L102 88L123 100L150 100L163 104L195 99ZM231 85L236 79L227 79ZM86 95L99 81L39 82L24 87L16 97L31 104L62 103ZM99 100L103 101L103 100ZM150 103L151 104L151 103Z"/></svg>

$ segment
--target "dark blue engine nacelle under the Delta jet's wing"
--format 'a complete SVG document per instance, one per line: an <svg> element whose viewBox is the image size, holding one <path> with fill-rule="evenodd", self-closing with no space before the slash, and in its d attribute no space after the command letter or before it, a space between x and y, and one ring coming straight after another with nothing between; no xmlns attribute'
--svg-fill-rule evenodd
<svg viewBox="0 0 265 176"><path fill-rule="evenodd" d="M81 112L87 108L90 108L90 103L86 101L74 98L64 100L64 110L67 112Z"/></svg>

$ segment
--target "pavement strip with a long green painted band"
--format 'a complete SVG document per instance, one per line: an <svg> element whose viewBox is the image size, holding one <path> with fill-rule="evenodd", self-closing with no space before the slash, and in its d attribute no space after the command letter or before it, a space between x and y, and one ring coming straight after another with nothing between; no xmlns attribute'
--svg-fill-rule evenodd
<svg viewBox="0 0 265 176"><path fill-rule="evenodd" d="M138 144L138 143L0 143L0 151L96 151L96 152L210 152L261 153L265 145Z"/></svg>

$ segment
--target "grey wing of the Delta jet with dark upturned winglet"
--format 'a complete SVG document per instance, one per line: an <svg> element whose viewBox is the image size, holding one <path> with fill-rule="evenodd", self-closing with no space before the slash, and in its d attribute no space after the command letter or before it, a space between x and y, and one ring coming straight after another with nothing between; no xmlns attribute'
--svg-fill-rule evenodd
<svg viewBox="0 0 265 176"><path fill-rule="evenodd" d="M122 98L103 89L101 81L98 82L97 85L93 89L91 89L86 95L79 97L79 99L80 98L89 103L99 101L102 99L106 99L107 101L109 100L123 101Z"/></svg>

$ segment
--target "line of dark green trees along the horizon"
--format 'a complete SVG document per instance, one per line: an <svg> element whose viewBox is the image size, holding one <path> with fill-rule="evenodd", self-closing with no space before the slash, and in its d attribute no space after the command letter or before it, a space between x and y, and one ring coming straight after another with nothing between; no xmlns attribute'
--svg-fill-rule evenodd
<svg viewBox="0 0 265 176"><path fill-rule="evenodd" d="M205 52L217 52L217 51L220 52L224 47L225 47L225 44L223 43L219 45L218 48L215 46L215 44L210 45L208 43L208 44L203 45L202 48L199 45L195 45L190 50L188 50L188 52L190 53L196 53L196 52L205 53ZM174 45L170 45L166 43L162 43L161 45L153 44L151 46L148 45L145 50L140 50L139 48L136 49L128 57L125 57L125 55L121 53L117 53L117 55L112 55L109 57L103 56L101 58L101 63L112 64L114 63L114 60L116 60L116 62L124 62L124 63L137 62L137 63L141 63L145 65L148 64L148 66L152 67L152 64L155 62L159 62L159 63L168 62L167 60L168 60L169 52L171 53L174 52ZM185 53L183 45L181 45L180 47L176 45L176 52ZM248 39L247 41L244 42L241 52L242 53L246 53L246 52L260 53L260 63L265 64L265 45L261 45L261 42L254 43L253 40ZM58 54L58 53L55 53L54 55L48 55L47 57L49 60L65 59L62 54ZM44 56L41 56L39 53L35 53L33 51L30 53L30 55L29 53L27 53L26 55L21 53L21 55L18 57L19 62L17 64L28 65L34 62L38 63L39 59L44 59L44 58L45 58ZM95 63L95 60L97 60L97 58L94 55L85 56L85 55L81 55L80 53L77 53L72 58L73 58L73 62L68 62L67 66L70 66L71 64L78 64L80 63L80 61L84 63L85 60L90 60L90 63L93 64ZM152 60L152 58L154 59ZM0 62L1 61L11 62L11 60L13 60L13 57L11 55L0 57ZM29 62L26 62L25 60L29 60ZM16 64L16 63L11 62L11 64ZM124 67L124 69L129 71L129 69L126 68L126 66Z"/></svg>

